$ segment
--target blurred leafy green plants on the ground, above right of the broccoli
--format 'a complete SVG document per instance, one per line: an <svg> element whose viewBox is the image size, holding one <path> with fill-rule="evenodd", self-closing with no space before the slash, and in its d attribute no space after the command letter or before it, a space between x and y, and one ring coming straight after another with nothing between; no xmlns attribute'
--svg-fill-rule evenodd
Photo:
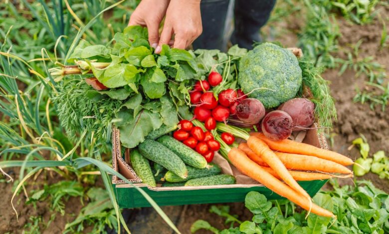
<svg viewBox="0 0 389 234"><path fill-rule="evenodd" d="M341 36L335 17L315 1L304 0L304 3L306 25L298 35L298 46L316 67L334 68L336 63L332 53L338 50L338 37Z"/></svg>

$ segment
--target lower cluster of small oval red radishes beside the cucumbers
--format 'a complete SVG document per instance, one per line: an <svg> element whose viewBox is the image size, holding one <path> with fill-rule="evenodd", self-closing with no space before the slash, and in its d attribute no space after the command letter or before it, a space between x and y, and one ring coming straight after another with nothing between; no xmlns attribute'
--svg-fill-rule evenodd
<svg viewBox="0 0 389 234"><path fill-rule="evenodd" d="M196 150L207 162L211 162L214 151L220 149L220 143L213 138L212 133L210 131L204 132L201 127L194 126L191 121L186 119L180 121L179 127L173 133L173 137Z"/></svg>

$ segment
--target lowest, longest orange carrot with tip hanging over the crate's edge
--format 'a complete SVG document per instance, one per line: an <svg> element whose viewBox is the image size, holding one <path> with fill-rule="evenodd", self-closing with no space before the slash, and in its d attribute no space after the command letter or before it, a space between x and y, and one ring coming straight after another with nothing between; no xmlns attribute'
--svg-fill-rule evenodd
<svg viewBox="0 0 389 234"><path fill-rule="evenodd" d="M246 154L237 148L232 148L228 152L228 159L240 172L262 183L264 186L277 193L278 195L289 199L290 201L301 206L305 210L311 208L311 212L320 216L335 217L334 214L323 209L316 204L310 203L300 193L296 192L286 184L279 181L273 175L269 174L261 166L250 160Z"/></svg>

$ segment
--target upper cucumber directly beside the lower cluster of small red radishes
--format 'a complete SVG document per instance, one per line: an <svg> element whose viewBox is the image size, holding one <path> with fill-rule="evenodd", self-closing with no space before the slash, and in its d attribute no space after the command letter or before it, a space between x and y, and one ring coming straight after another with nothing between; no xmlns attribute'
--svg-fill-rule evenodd
<svg viewBox="0 0 389 234"><path fill-rule="evenodd" d="M176 153L180 158L189 166L195 168L205 168L207 163L206 160L201 154L197 153L190 147L176 140L175 138L164 135L157 139L158 142L168 147L174 153Z"/></svg>

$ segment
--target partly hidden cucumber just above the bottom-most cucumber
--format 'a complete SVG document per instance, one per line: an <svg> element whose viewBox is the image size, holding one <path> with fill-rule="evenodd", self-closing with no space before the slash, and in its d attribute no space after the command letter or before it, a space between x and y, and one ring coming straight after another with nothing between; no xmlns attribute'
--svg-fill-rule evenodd
<svg viewBox="0 0 389 234"><path fill-rule="evenodd" d="M188 181L199 177L218 175L221 173L221 168L219 167L219 165L216 165L214 163L209 163L207 167L202 169L194 168L191 166L187 166L187 168L188 168L188 177L186 179L181 178L180 176L174 174L171 171L166 172L164 178L168 182L176 183L176 182Z"/></svg>

